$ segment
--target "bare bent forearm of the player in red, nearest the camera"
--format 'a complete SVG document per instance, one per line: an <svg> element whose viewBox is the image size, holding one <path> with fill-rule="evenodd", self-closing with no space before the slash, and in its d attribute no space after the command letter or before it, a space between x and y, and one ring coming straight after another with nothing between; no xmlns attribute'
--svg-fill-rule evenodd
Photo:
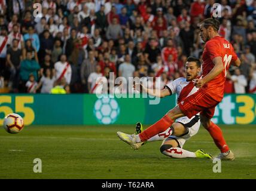
<svg viewBox="0 0 256 191"><path fill-rule="evenodd" d="M211 72L208 73L205 77L202 79L197 79L194 83L197 88L202 87L207 82L214 79L216 76L218 76L223 70L224 70L224 64L221 57L215 57L214 60L212 60L215 66L212 68Z"/></svg>

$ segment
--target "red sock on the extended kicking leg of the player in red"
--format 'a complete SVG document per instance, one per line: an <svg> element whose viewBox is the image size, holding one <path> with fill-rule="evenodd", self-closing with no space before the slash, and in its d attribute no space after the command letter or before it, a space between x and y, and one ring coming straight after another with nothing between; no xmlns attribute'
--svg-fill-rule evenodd
<svg viewBox="0 0 256 191"><path fill-rule="evenodd" d="M142 142L147 141L149 138L154 137L154 135L167 130L173 122L174 121L167 115L164 115L163 118L157 121L154 125L151 125L147 130L142 131L142 133L139 134L139 138L141 138Z"/></svg>

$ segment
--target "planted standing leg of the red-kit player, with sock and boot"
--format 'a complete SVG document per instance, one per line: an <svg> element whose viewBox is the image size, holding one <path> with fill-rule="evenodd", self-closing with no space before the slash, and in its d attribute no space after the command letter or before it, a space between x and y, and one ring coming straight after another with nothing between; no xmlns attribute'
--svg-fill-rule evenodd
<svg viewBox="0 0 256 191"><path fill-rule="evenodd" d="M229 150L220 127L214 124L214 122L211 121L211 118L208 118L206 115L206 113L200 114L200 121L203 127L211 134L216 146L221 150L218 158L221 160L233 161L234 154L231 152L231 150Z"/></svg>

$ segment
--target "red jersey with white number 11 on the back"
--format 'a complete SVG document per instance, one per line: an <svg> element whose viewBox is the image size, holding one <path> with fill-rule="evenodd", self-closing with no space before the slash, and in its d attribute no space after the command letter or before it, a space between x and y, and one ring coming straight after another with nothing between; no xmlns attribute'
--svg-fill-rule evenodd
<svg viewBox="0 0 256 191"><path fill-rule="evenodd" d="M203 50L203 76L208 75L214 67L212 60L214 60L215 57L222 58L224 70L214 79L209 81L205 88L207 88L206 93L211 94L211 97L214 98L214 100L221 101L224 96L224 84L227 70L230 67L231 61L237 60L237 55L230 42L220 36L215 36L206 42L205 50Z"/></svg>

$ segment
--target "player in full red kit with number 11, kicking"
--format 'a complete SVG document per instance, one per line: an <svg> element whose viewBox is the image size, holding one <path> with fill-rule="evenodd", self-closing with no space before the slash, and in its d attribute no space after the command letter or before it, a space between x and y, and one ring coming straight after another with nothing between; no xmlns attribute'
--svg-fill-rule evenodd
<svg viewBox="0 0 256 191"><path fill-rule="evenodd" d="M182 116L191 118L200 112L201 124L208 130L215 144L221 150L218 158L234 160L234 154L225 143L220 127L211 121L215 107L223 99L225 76L230 64L240 66L240 60L234 53L233 46L218 34L219 28L220 21L214 18L203 20L200 23L200 37L206 44L203 51L202 78L194 81L194 85L199 90L180 101L177 106L169 110L163 118L148 127L147 130L138 135L123 134L120 137L121 140L135 147L136 144L141 144L171 127L175 119Z"/></svg>

